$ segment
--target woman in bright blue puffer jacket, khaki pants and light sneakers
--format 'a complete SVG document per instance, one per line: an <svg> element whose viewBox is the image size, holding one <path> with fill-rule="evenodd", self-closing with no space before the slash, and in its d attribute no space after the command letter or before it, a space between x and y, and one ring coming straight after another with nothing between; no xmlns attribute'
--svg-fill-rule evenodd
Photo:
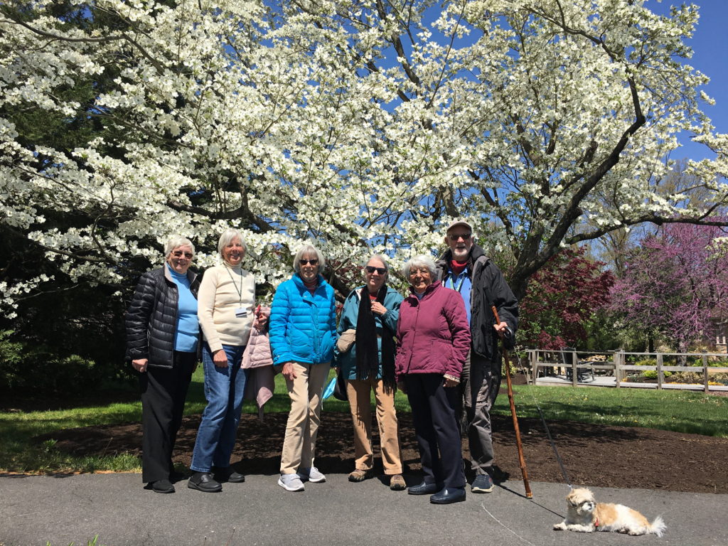
<svg viewBox="0 0 728 546"><path fill-rule="evenodd" d="M290 397L278 480L286 491L326 480L314 467L321 392L336 343L336 300L319 273L324 265L317 248L301 247L293 260L296 273L277 288L271 307L273 364L281 368Z"/></svg>

